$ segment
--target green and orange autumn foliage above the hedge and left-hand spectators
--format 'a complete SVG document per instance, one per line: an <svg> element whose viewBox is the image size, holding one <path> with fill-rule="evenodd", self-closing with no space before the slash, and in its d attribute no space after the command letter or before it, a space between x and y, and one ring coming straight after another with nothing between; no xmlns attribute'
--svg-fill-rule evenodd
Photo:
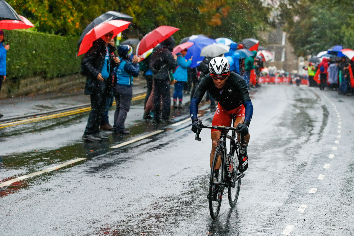
<svg viewBox="0 0 354 236"><path fill-rule="evenodd" d="M159 25L181 30L176 38L191 34L229 37L236 41L256 36L268 23L270 8L261 0L9 0L15 10L37 30L80 35L94 18L109 10L133 16L130 31L141 37Z"/></svg>

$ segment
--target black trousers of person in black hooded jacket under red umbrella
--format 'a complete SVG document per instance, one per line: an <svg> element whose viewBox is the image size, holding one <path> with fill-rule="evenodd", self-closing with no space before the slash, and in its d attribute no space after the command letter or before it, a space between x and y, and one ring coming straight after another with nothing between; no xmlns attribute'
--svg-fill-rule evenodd
<svg viewBox="0 0 354 236"><path fill-rule="evenodd" d="M171 109L171 94L169 80L154 80L154 119L160 117L160 102L162 98L162 120L168 120Z"/></svg>

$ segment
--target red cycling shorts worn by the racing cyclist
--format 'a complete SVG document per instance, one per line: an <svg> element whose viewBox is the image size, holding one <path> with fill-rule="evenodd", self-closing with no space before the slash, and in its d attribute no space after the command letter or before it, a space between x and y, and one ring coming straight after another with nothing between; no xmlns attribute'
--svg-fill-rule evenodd
<svg viewBox="0 0 354 236"><path fill-rule="evenodd" d="M220 103L218 103L218 108L216 108L213 122L211 123L211 125L230 127L232 122L231 116L236 115L236 117L245 117L245 111L246 109L243 104L240 105L238 108L227 111L220 105ZM211 132L214 131L218 131L218 130L211 129Z"/></svg>

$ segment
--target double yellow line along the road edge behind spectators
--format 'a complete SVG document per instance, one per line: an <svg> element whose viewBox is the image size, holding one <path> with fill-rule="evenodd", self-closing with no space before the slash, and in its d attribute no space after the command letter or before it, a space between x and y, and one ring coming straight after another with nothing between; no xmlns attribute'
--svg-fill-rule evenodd
<svg viewBox="0 0 354 236"><path fill-rule="evenodd" d="M142 94L142 95L138 95L136 97L133 97L132 101L136 101L136 100L145 98L145 96L146 96L146 93ZM115 104L116 104L116 102L113 103L113 105L115 105ZM74 114L83 113L86 111L91 111L91 107L80 108L80 109L71 110L71 111L65 111L62 113L57 113L57 114L52 114L52 115L39 116L39 117L34 117L34 118L26 119L26 120L19 120L19 121L3 123L3 124L0 124L0 129L6 128L6 127L11 127L11 126L16 126L16 125L32 123L32 122L41 121L41 120L49 120L49 119L54 119L54 118L58 118L58 117L74 115Z"/></svg>

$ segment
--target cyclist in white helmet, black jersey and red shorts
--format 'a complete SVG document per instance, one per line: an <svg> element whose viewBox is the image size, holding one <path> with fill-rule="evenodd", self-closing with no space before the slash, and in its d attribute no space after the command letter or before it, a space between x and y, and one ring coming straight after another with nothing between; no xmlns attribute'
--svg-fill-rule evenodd
<svg viewBox="0 0 354 236"><path fill-rule="evenodd" d="M225 57L215 57L210 61L210 73L201 79L190 102L190 116L193 123L192 131L196 133L198 130L201 130L202 122L197 118L198 104L205 92L209 91L210 95L218 102L212 125L230 126L232 115L236 115L234 127L238 128L238 140L240 141L240 134L245 140L244 143L241 143L239 162L239 170L240 172L244 172L248 168L247 145L250 140L248 127L253 114L253 105L247 90L246 81L229 69L230 64ZM211 129L212 148L210 152L210 167L220 134L221 132L217 129ZM221 162L216 166L215 175L218 174L220 166Z"/></svg>

